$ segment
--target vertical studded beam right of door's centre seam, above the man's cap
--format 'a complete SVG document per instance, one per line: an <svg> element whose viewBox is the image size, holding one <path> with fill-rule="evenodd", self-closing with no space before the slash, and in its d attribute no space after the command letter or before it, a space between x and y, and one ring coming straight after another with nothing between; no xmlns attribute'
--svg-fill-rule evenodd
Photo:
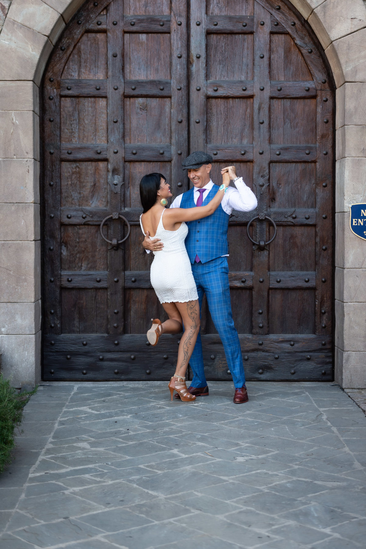
<svg viewBox="0 0 366 549"><path fill-rule="evenodd" d="M206 2L191 0L190 152L206 151ZM197 88L200 88L197 90Z"/></svg>

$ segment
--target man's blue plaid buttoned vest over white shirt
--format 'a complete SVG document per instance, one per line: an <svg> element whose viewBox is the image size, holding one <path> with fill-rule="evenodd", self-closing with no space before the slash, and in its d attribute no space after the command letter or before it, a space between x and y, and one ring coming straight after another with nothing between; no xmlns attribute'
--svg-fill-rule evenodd
<svg viewBox="0 0 366 549"><path fill-rule="evenodd" d="M219 187L214 184L207 197L203 200L205 206L213 199ZM182 196L181 208L195 208L193 200L194 189L190 189ZM229 214L224 212L221 204L218 209L208 217L197 221L187 221L188 234L185 240L186 249L191 263L195 262L198 255L202 263L207 263L216 257L228 254L228 225Z"/></svg>

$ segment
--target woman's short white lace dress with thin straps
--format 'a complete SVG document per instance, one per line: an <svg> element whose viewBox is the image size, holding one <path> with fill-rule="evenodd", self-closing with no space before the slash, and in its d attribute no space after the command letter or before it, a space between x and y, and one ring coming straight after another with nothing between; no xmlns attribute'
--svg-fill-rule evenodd
<svg viewBox="0 0 366 549"><path fill-rule="evenodd" d="M154 260L150 268L150 281L160 303L194 301L198 299L191 262L185 247L188 227L184 221L176 231L167 231L163 226L163 214L154 237L164 243L161 251L153 252ZM143 234L141 215L140 225Z"/></svg>

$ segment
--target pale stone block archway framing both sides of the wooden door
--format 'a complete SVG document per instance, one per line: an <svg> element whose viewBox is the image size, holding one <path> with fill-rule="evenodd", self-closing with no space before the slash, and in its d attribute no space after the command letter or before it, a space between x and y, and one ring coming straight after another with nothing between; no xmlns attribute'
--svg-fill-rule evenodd
<svg viewBox="0 0 366 549"><path fill-rule="evenodd" d="M366 201L366 7L291 1L323 45L337 86L335 375L345 388L366 387L366 242L351 232L348 208ZM0 0L0 352L16 386L41 374L38 87L83 2Z"/></svg>

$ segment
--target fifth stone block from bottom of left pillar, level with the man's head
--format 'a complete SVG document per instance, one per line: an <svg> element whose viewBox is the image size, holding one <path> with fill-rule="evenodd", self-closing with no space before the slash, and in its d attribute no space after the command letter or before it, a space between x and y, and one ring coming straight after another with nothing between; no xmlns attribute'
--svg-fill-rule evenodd
<svg viewBox="0 0 366 549"><path fill-rule="evenodd" d="M0 159L0 203L40 201L40 163L33 159Z"/></svg>

